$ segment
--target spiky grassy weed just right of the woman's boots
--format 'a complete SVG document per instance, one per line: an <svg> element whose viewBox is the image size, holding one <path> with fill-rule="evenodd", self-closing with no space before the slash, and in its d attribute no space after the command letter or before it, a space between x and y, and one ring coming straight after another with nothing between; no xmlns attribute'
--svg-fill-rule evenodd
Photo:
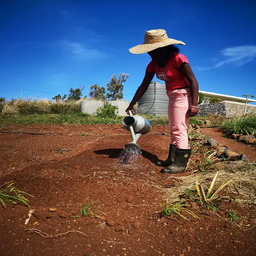
<svg viewBox="0 0 256 256"><path fill-rule="evenodd" d="M200 172L204 170L215 169L221 165L227 164L228 162L223 162L222 159L219 159L215 155L217 151L208 151L206 152L201 159L198 158L198 161L192 161L193 164L193 173Z"/></svg>

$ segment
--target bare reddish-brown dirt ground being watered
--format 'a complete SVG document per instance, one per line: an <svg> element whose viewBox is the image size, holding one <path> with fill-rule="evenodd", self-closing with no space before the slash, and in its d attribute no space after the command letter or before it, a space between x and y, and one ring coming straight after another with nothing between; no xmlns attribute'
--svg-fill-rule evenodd
<svg viewBox="0 0 256 256"><path fill-rule="evenodd" d="M231 200L212 211L190 202L200 219L188 220L155 212L173 177L154 164L167 155L169 137L160 135L166 129L155 125L141 136L142 157L121 165L117 156L131 141L121 125L1 125L0 184L14 180L32 195L34 214L25 225L28 207L0 208L0 255L255 255L253 206ZM100 218L74 217L91 202ZM240 227L228 209L244 217ZM83 234L45 238L26 230L32 228Z"/></svg>

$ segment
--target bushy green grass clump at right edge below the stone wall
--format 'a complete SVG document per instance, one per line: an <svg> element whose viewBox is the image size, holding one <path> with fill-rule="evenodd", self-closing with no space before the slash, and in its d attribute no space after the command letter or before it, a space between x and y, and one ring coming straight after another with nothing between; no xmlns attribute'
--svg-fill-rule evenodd
<svg viewBox="0 0 256 256"><path fill-rule="evenodd" d="M224 121L221 129L229 134L256 135L256 112L243 117L234 117Z"/></svg>

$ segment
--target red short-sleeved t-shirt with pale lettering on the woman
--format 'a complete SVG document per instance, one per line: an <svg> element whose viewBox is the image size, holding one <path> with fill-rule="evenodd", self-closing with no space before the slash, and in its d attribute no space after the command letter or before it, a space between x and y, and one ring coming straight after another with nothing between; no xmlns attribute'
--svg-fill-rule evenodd
<svg viewBox="0 0 256 256"><path fill-rule="evenodd" d="M187 58L180 53L170 54L164 68L160 68L156 60L152 60L146 70L155 72L158 79L165 81L166 90L174 90L179 87L189 86L189 82L179 70L182 63L188 63Z"/></svg>

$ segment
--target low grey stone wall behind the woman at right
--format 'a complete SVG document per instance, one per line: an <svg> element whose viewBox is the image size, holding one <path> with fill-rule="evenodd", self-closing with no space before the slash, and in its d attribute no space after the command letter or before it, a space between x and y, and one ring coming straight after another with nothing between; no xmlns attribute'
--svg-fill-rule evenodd
<svg viewBox="0 0 256 256"><path fill-rule="evenodd" d="M220 103L200 104L199 116L207 116L216 114L225 117L242 116L244 114L244 103L235 103L230 101L222 101ZM256 105L247 104L246 114L256 112Z"/></svg>

